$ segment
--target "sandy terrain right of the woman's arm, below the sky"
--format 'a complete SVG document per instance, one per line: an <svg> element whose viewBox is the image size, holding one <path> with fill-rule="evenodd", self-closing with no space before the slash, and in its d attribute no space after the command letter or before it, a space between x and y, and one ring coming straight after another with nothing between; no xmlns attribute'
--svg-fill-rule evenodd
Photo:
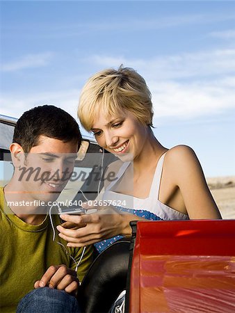
<svg viewBox="0 0 235 313"><path fill-rule="evenodd" d="M206 179L222 218L235 219L235 176Z"/></svg>

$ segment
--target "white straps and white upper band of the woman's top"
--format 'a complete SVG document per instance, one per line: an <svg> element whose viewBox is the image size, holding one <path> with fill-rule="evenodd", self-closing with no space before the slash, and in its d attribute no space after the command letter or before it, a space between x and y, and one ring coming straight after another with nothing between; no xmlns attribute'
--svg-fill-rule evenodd
<svg viewBox="0 0 235 313"><path fill-rule="evenodd" d="M117 172L117 179L115 179L111 184L108 185L106 191L103 194L103 200L110 200L113 203L118 204L120 207L124 207L125 209L135 209L135 210L146 210L163 220L187 220L188 215L183 214L168 205L159 201L159 188L161 182L161 174L163 170L163 161L164 161L165 153L160 157L156 170L154 172L154 178L152 180L152 185L149 192L149 197L145 199L140 199L137 197L133 197L132 195L125 195L122 193L117 193L112 191L113 186L118 182L118 180L122 177L125 170L127 170L128 166L131 162L125 162L120 167L120 170ZM123 202L126 203L123 206Z"/></svg>

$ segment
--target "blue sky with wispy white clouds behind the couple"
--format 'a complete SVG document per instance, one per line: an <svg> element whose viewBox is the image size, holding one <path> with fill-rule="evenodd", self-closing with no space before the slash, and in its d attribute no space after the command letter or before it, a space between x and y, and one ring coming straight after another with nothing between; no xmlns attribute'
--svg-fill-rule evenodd
<svg viewBox="0 0 235 313"><path fill-rule="evenodd" d="M235 175L234 1L1 1L0 9L1 114L54 104L76 117L86 80L123 63L152 91L156 138L193 147L206 177Z"/></svg>

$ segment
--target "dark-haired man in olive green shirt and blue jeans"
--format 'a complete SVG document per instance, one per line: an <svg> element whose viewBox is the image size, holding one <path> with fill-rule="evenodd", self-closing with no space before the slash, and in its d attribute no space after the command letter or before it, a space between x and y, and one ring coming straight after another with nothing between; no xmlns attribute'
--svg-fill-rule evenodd
<svg viewBox="0 0 235 313"><path fill-rule="evenodd" d="M72 295L92 262L92 248L68 248L58 233L53 240L60 218L52 215L51 225L48 212L72 175L80 145L76 121L55 106L35 107L17 121L10 145L15 170L0 188L0 312L15 312L33 288L19 312L50 312L51 301L58 312L61 305L63 312L78 310ZM37 297L44 307L27 307L32 301L38 306Z"/></svg>

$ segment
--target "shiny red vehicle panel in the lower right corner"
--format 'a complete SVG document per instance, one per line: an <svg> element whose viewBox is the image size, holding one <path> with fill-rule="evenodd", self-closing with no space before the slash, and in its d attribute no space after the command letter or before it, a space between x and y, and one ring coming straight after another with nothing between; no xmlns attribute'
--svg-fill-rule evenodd
<svg viewBox="0 0 235 313"><path fill-rule="evenodd" d="M235 220L138 222L129 312L235 312Z"/></svg>

